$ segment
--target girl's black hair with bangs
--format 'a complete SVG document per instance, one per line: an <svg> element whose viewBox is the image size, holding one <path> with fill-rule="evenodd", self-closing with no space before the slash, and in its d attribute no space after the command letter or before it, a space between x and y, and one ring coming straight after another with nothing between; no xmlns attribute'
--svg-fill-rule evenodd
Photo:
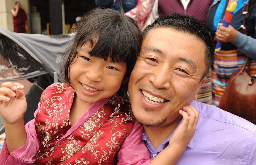
<svg viewBox="0 0 256 165"><path fill-rule="evenodd" d="M117 94L127 99L128 80L141 49L141 31L134 20L116 10L95 8L77 22L76 34L64 53L60 75L71 86L69 66L77 59L77 48L90 42L91 56L113 62L123 61L127 71ZM95 40L96 39L96 40Z"/></svg>

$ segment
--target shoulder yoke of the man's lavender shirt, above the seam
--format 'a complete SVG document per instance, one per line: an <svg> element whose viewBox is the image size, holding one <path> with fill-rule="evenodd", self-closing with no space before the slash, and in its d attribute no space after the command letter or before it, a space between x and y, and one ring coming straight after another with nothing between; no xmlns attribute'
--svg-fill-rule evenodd
<svg viewBox="0 0 256 165"><path fill-rule="evenodd" d="M197 103L200 120L206 123L229 127L230 130L250 131L255 134L256 125L216 106Z"/></svg>

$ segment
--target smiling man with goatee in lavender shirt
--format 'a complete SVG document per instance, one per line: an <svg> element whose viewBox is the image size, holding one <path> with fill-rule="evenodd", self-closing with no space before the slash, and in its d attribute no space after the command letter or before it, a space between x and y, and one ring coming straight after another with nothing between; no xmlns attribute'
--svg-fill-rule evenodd
<svg viewBox="0 0 256 165"><path fill-rule="evenodd" d="M199 113L196 132L177 164L255 164L256 126L195 101L214 60L212 39L203 25L194 18L172 14L156 20L142 35L129 95L143 130L137 128L126 140L135 141L141 131L151 158L156 157L182 122L179 109L191 105ZM132 143L126 151L139 155L143 143L142 147ZM120 155L125 153L123 148Z"/></svg>

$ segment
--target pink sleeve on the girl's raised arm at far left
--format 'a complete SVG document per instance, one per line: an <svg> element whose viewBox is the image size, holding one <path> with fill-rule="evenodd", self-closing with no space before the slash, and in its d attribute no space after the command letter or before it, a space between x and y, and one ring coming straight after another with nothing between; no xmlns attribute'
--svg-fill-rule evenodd
<svg viewBox="0 0 256 165"><path fill-rule="evenodd" d="M40 104L38 103L38 108ZM35 111L34 116L36 115L38 109ZM27 141L26 143L9 153L6 141L4 140L3 148L0 152L0 164L9 165L29 165L34 164L36 153L39 148L39 140L37 139L37 134L34 125L35 119L31 120L25 125L25 129L27 132Z"/></svg>

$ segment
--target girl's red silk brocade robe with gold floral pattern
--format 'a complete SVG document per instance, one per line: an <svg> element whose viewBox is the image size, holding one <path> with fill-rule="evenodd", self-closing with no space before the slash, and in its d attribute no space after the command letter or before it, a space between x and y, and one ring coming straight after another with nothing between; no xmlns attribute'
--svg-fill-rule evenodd
<svg viewBox="0 0 256 165"><path fill-rule="evenodd" d="M74 91L62 83L44 91L35 128L40 146L35 164L115 164L116 153L134 123L131 106L118 95L70 135L69 114Z"/></svg>

